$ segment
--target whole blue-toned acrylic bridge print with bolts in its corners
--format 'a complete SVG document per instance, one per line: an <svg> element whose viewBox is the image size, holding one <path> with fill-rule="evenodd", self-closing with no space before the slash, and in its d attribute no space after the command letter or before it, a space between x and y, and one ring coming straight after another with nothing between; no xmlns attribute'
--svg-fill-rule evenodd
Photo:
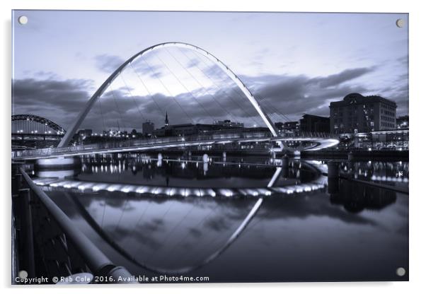
<svg viewBox="0 0 426 294"><path fill-rule="evenodd" d="M408 14L12 18L12 283L408 281Z"/></svg>

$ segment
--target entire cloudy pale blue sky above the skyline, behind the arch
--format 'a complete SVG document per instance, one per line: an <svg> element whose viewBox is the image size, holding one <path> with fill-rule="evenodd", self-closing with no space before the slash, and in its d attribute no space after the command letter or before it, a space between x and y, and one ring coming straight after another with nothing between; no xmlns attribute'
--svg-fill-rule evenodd
<svg viewBox="0 0 426 294"><path fill-rule="evenodd" d="M19 25L19 16L28 16ZM398 28L396 20L405 20ZM408 114L408 16L349 13L15 11L12 114L67 129L117 66L161 42L214 54L273 121L329 115L348 93L381 95ZM232 119L263 125L230 78L197 52L158 49L128 66L88 113L94 131Z"/></svg>

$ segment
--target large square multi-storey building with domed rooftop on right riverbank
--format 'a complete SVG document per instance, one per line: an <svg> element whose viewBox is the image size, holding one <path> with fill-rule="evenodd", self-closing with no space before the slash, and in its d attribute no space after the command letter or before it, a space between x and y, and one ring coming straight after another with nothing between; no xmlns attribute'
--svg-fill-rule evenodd
<svg viewBox="0 0 426 294"><path fill-rule="evenodd" d="M346 95L330 102L330 132L356 134L396 129L396 103L378 95Z"/></svg>

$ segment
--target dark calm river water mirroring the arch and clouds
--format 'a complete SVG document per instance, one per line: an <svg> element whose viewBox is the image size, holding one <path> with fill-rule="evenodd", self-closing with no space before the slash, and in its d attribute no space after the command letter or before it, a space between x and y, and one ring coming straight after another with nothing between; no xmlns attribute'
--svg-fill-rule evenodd
<svg viewBox="0 0 426 294"><path fill-rule="evenodd" d="M221 158L214 158L207 168L188 158L162 160L160 165L141 155L83 158L71 178L164 187L254 188L266 187L277 170L246 165L269 159L214 161ZM340 169L362 180L374 182L372 176L382 179L384 174L384 181L388 177L390 182L408 184L408 163L342 163ZM407 280L408 274L399 277L396 269L408 271L408 194L351 180L328 180L304 160L290 160L275 187L318 180L326 186L264 196L255 216L226 248L259 197L43 189L115 264L135 275L158 275L149 269L191 268L183 276L206 276L211 282Z"/></svg>

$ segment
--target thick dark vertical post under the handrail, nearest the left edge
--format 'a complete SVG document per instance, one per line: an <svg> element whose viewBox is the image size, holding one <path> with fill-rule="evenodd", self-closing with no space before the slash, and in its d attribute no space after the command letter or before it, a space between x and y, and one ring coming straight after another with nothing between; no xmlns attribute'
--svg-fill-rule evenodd
<svg viewBox="0 0 426 294"><path fill-rule="evenodd" d="M33 218L31 214L30 189L20 189L18 192L19 209L21 211L21 244L23 259L21 269L28 272L28 277L35 276Z"/></svg>

